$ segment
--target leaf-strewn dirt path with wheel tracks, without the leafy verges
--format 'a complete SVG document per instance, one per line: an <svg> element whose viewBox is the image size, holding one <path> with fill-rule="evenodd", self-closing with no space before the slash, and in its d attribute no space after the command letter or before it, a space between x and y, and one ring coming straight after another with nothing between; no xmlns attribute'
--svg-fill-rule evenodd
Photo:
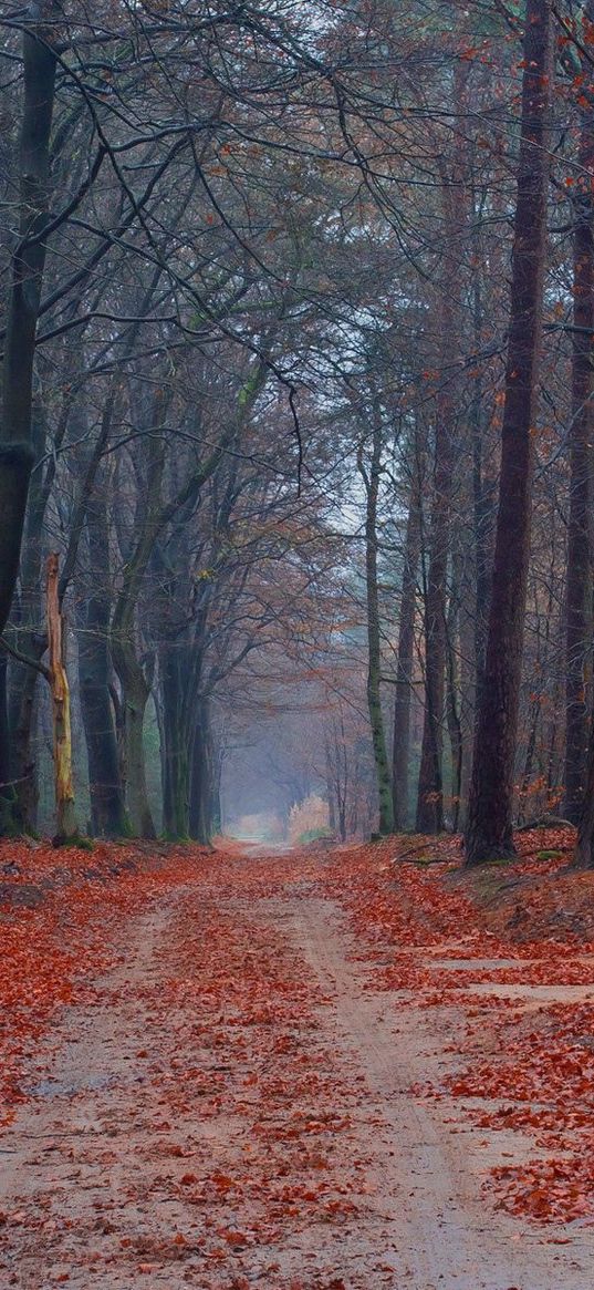
<svg viewBox="0 0 594 1290"><path fill-rule="evenodd" d="M518 1134L412 1095L456 1009L374 987L311 859L232 855L112 937L0 1139L3 1290L590 1284L591 1228L481 1196Z"/></svg>

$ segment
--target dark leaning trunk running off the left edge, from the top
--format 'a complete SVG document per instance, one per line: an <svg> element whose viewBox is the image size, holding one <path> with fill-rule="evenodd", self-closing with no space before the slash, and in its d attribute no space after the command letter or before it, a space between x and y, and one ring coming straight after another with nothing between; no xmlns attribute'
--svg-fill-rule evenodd
<svg viewBox="0 0 594 1290"><path fill-rule="evenodd" d="M0 632L18 575L34 466L31 409L35 339L45 268L49 141L55 92L55 0L31 5L23 32L24 103L21 128L19 236L12 257L0 418Z"/></svg>

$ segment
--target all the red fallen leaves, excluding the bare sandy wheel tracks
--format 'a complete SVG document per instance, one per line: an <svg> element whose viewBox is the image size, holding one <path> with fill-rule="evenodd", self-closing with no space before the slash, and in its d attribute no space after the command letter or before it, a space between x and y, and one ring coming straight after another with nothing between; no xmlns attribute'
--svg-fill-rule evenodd
<svg viewBox="0 0 594 1290"><path fill-rule="evenodd" d="M300 881L347 908L353 957L370 966L375 988L397 991L397 1007L445 1009L446 1026L450 1014L464 1011L456 1071L416 1093L472 1099L470 1113L483 1129L533 1136L544 1158L497 1166L490 1187L497 1204L539 1222L594 1214L594 989L591 1002L582 997L594 987L591 878L563 876L562 858L536 859L545 844L553 850L567 840L523 836L526 854L517 864L478 876L454 872L460 853L451 840L439 844L442 851L432 844L430 866L392 863L398 848L410 849L408 840L294 860ZM149 1276L200 1246L200 1258L219 1276L236 1251L272 1251L287 1232L348 1223L369 1191L358 1176L365 1161L349 1157L365 1089L341 1082L335 1054L320 1040L317 1018L327 1000L317 980L291 957L282 934L250 909L250 890L258 898L283 893L286 860L244 863L241 908L237 849L225 859L187 848L157 857L110 846L57 855L4 844L3 860L17 868L5 886L41 891L30 906L10 894L0 904L5 1122L41 1075L36 1044L61 1009L85 1000L107 1006L111 987L98 977L125 969L130 920L183 899L162 975L138 995L143 1020L130 1036L131 1057L143 1099L151 1090L151 1120L146 1144L134 1148L138 1182L126 1195L139 1209L160 1205L165 1195L196 1214L196 1223L152 1242L117 1233L120 1258L134 1258L135 1269ZM493 960L504 965L493 968ZM477 993L478 987L492 992ZM505 997L504 987L519 995ZM536 995L527 1006L526 991L542 987L577 996ZM187 1131L193 1117L214 1135L213 1153ZM229 1124L227 1152L222 1126ZM76 1162L76 1152L71 1156ZM104 1162L108 1167L110 1152ZM10 1216L14 1228L18 1215ZM24 1211L21 1219L26 1223ZM39 1224L48 1222L41 1214ZM89 1259L101 1264L97 1253Z"/></svg>

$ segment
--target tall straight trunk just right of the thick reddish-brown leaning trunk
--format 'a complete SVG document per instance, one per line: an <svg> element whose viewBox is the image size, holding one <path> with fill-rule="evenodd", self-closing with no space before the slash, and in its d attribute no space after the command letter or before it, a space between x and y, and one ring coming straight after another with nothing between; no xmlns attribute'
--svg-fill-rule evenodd
<svg viewBox="0 0 594 1290"><path fill-rule="evenodd" d="M594 3L588 5L594 22ZM563 813L577 822L588 752L586 651L591 636L591 396L594 334L594 111L582 111L580 177L573 199L573 359L566 623L566 795Z"/></svg>

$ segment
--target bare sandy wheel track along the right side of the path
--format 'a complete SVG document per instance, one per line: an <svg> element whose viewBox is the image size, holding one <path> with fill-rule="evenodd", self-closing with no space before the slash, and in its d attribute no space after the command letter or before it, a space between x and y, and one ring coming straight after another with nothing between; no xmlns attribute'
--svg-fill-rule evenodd
<svg viewBox="0 0 594 1290"><path fill-rule="evenodd" d="M432 1009L429 1018L396 992L374 991L353 961L361 947L343 911L312 891L304 884L290 900L269 902L268 913L334 995L336 1050L350 1054L374 1099L381 1122L374 1139L378 1191L402 1284L414 1290L585 1290L594 1254L589 1232L559 1227L541 1236L492 1210L481 1197L484 1134L468 1125L460 1130L438 1106L410 1093L415 1084L438 1082L452 1064L455 1010Z"/></svg>

